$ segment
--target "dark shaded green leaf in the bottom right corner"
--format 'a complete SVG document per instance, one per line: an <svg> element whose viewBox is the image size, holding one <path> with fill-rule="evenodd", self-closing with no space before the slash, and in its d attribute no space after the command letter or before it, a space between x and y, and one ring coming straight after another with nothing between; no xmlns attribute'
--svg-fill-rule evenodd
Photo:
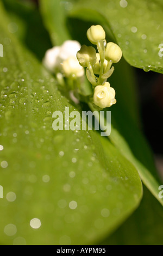
<svg viewBox="0 0 163 256"><path fill-rule="evenodd" d="M144 188L139 209L103 245L162 245L162 206Z"/></svg>

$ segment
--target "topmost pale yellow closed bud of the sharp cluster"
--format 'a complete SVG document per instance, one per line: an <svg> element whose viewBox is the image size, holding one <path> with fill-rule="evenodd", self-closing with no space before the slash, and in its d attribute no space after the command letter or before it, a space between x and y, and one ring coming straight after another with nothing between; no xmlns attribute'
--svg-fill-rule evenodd
<svg viewBox="0 0 163 256"><path fill-rule="evenodd" d="M87 30L87 38L93 45L96 45L98 41L104 40L105 36L105 31L100 25L91 26Z"/></svg>

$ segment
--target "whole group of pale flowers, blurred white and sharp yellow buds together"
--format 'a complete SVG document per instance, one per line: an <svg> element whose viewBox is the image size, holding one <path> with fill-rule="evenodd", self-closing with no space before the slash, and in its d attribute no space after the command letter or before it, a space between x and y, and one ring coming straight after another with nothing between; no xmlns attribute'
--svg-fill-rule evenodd
<svg viewBox="0 0 163 256"><path fill-rule="evenodd" d="M100 25L91 26L87 30L87 38L97 46L98 53L92 46L81 47L78 41L68 40L61 46L48 50L43 63L47 69L57 74L62 86L83 94L83 97L80 87L86 68L86 77L92 85L92 95L85 101L100 109L111 107L116 103L115 90L107 80L114 72L112 64L119 62L122 57L121 48L114 42L107 44L105 31Z"/></svg>

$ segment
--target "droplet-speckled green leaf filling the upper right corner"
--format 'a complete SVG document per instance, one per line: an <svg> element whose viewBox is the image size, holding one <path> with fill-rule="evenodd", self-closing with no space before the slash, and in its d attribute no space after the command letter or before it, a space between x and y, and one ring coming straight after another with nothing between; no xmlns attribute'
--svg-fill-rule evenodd
<svg viewBox="0 0 163 256"><path fill-rule="evenodd" d="M160 51L163 44L161 0L70 2L72 3L70 15L73 17L88 19L93 11L103 16L130 65L145 71L163 73L163 57Z"/></svg>

